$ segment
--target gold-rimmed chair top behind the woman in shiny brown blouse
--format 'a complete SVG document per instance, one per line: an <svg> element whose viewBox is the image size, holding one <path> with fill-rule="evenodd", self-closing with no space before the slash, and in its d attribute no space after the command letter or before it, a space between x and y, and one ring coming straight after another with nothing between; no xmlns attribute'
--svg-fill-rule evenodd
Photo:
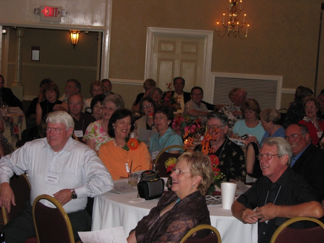
<svg viewBox="0 0 324 243"><path fill-rule="evenodd" d="M210 229L212 230L213 232L204 237L204 238L200 238L200 239L191 239L191 238L188 238L190 237L190 235L192 235L194 232L198 231L198 230L201 230L201 229ZM221 240L221 235L219 234L218 230L209 225L209 224L200 224L196 227L194 227L193 229L191 229L183 238L182 240L180 241L180 243L210 243L210 242L215 242L215 243L221 243L222 240Z"/></svg>

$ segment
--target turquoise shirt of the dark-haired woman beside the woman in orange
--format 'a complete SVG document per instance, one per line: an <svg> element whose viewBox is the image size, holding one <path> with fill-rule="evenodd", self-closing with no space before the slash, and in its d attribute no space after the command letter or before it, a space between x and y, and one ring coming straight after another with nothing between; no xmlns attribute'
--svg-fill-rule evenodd
<svg viewBox="0 0 324 243"><path fill-rule="evenodd" d="M168 128L167 132L160 137L160 133L155 133L151 136L150 140L150 147L149 151L150 154L155 151L162 151L164 148L171 146L171 145L180 145L183 146L182 138L179 134L174 132L170 127ZM172 151L172 150L182 150L180 148L171 148L168 149L166 152ZM181 152L181 151L180 151Z"/></svg>

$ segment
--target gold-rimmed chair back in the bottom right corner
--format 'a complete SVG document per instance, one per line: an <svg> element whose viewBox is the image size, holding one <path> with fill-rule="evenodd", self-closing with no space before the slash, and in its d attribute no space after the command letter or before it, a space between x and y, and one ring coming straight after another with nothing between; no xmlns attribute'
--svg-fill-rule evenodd
<svg viewBox="0 0 324 243"><path fill-rule="evenodd" d="M308 229L288 227L298 221L312 221L319 226ZM271 237L270 243L320 243L324 239L324 224L317 219L307 217L296 217L281 224Z"/></svg>

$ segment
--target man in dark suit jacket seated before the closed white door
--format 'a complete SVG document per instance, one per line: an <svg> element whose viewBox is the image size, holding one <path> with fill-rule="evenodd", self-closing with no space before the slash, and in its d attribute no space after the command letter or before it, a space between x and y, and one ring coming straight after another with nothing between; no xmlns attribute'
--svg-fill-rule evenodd
<svg viewBox="0 0 324 243"><path fill-rule="evenodd" d="M185 80L183 77L175 77L173 79L174 91L171 91L171 96L178 98L178 103L180 104L181 109L177 110L177 113L183 113L184 105L191 99L189 92L184 92L183 88L185 86ZM167 95L167 92L163 94L164 98ZM204 103L209 110L214 110L215 105L207 103L206 101L201 101Z"/></svg>

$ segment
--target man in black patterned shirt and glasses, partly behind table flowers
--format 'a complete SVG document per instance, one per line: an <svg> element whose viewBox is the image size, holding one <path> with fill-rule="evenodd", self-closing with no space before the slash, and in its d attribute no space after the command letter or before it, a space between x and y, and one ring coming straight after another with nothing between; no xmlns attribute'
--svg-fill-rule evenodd
<svg viewBox="0 0 324 243"><path fill-rule="evenodd" d="M246 176L246 166L244 152L240 146L231 142L226 137L228 131L228 119L224 113L215 112L207 116L207 132L210 135L217 134L215 140L210 141L210 145L215 152L213 153L219 158L219 169L225 175L224 180L235 180L236 176ZM201 146L197 145L194 150L201 150Z"/></svg>

